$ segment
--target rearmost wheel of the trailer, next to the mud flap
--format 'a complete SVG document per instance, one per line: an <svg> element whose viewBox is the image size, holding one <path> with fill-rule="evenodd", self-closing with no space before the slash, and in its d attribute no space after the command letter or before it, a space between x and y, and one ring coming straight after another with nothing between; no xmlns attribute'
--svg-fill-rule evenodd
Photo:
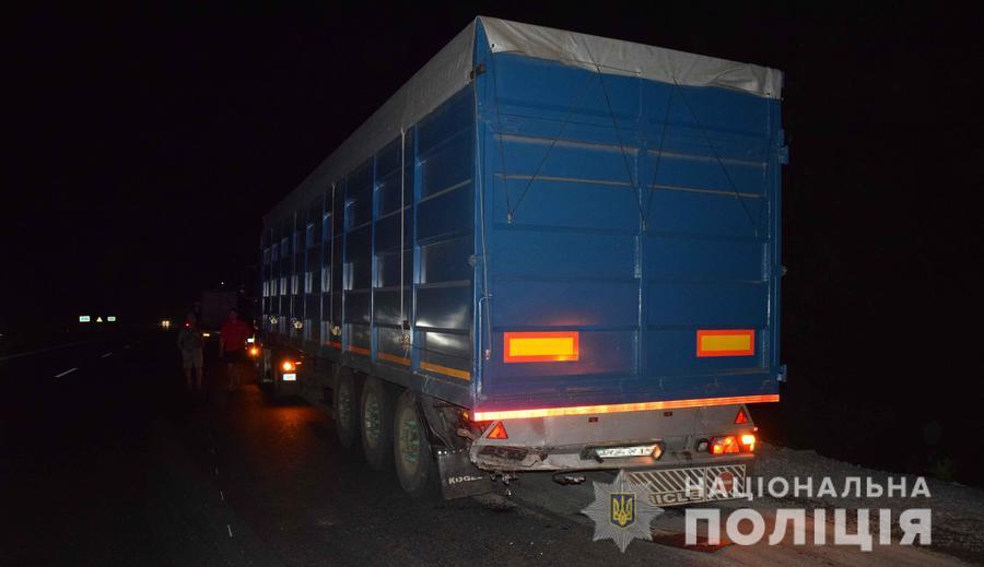
<svg viewBox="0 0 984 567"><path fill-rule="evenodd" d="M418 397L403 391L393 412L393 459L403 492L413 498L434 493L437 464L427 440L427 425Z"/></svg>

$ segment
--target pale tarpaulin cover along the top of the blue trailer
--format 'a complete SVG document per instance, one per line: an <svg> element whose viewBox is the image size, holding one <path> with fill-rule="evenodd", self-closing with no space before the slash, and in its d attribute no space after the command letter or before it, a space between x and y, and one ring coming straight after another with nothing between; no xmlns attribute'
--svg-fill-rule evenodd
<svg viewBox="0 0 984 567"><path fill-rule="evenodd" d="M399 138L401 130L465 87L470 81L478 24L484 28L492 52L518 54L665 83L742 91L766 98L778 98L782 90L782 72L766 67L479 16L281 201L267 215L267 221L280 221L283 215L306 206L332 182Z"/></svg>

